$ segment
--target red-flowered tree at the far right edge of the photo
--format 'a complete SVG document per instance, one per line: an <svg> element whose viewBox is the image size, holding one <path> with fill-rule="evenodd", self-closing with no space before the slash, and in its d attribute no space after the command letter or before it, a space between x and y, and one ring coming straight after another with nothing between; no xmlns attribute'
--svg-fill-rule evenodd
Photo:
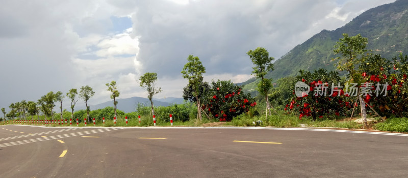
<svg viewBox="0 0 408 178"><path fill-rule="evenodd" d="M375 91L372 88L372 96L367 95L364 101L382 114L396 114L400 117L406 115L408 110L408 56L400 54L392 58L392 61L374 55L369 57L359 67L363 71L365 82L379 84L384 91ZM376 92L382 92L379 95Z"/></svg>

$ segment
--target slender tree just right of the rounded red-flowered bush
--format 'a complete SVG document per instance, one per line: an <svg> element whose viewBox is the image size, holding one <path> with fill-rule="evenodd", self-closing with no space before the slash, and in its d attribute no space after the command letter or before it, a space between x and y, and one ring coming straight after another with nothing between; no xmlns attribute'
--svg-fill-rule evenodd
<svg viewBox="0 0 408 178"><path fill-rule="evenodd" d="M268 114L268 111L270 115L271 113L268 93L272 88L272 82L270 79L265 78L265 75L268 73L268 71L273 70L272 61L275 60L275 58L269 57L269 52L262 47L258 47L253 51L249 50L247 54L251 59L253 65L255 66L252 67L252 74L254 74L258 78L261 78L261 81L258 83L257 90L261 95L265 96L266 115Z"/></svg>

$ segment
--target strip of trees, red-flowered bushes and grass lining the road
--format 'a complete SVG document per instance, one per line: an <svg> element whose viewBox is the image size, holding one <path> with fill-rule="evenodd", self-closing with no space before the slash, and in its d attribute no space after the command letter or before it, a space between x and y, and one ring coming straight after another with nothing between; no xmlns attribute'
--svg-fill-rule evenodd
<svg viewBox="0 0 408 178"><path fill-rule="evenodd" d="M95 92L86 85L79 93L72 88L65 95L48 92L37 102L11 103L9 112L2 108L4 117L0 121L4 125L48 120L54 121L48 126L58 127L65 126L65 120L69 125L72 119L72 126L76 127L78 118L79 126L84 127L85 120L87 126L93 126L95 118L96 126L147 127L170 126L171 114L174 126L336 127L408 132L408 55L400 54L389 60L372 55L371 50L366 49L367 39L361 35L343 34L343 37L333 51L338 55L333 58L338 71L300 70L299 75L280 78L275 83L265 78L267 71L273 70L271 61L274 58L269 57L265 48L248 51L254 65L252 73L259 78L257 91L260 95L256 97L245 94L243 86L231 80L203 82L205 67L197 56L189 55L182 70L183 77L188 80L183 90L184 104L154 106L152 97L162 91L155 85L157 74L145 73L138 82L146 90L150 103L138 103L135 112L124 113L116 108L119 92L116 82L111 81L106 85L113 99L112 107L91 110L87 101ZM307 85L310 92L297 95L294 89L298 82ZM350 86L350 83L356 85ZM350 87L354 87L355 95ZM314 93L316 91L319 93ZM62 110L64 96L71 101L70 111ZM85 102L86 110L74 110L78 101L75 97ZM60 110L56 111L57 104ZM58 125L58 121L63 124Z"/></svg>

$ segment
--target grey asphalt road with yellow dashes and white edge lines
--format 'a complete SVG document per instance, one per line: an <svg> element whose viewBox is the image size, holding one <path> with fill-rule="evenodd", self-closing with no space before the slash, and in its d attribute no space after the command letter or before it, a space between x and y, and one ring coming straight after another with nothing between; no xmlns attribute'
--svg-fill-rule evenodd
<svg viewBox="0 0 408 178"><path fill-rule="evenodd" d="M0 126L0 177L407 175L407 134Z"/></svg>

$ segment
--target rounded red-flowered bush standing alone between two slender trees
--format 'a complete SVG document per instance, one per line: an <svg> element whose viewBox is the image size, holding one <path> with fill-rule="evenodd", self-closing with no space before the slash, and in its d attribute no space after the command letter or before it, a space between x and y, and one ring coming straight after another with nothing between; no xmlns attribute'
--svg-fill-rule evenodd
<svg viewBox="0 0 408 178"><path fill-rule="evenodd" d="M219 121L231 121L233 117L248 112L257 105L250 94L244 94L241 86L228 81L212 81L202 97L201 108Z"/></svg>

